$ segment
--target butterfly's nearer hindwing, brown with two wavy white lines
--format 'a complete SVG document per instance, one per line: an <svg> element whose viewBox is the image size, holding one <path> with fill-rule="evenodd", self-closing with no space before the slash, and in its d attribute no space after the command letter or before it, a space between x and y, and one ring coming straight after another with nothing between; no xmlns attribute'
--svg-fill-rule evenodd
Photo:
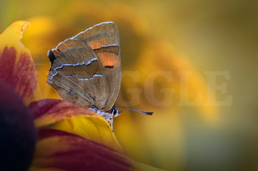
<svg viewBox="0 0 258 171"><path fill-rule="evenodd" d="M51 67L47 82L63 99L90 108L105 105L106 75L94 51L81 40L66 40L48 53Z"/></svg>

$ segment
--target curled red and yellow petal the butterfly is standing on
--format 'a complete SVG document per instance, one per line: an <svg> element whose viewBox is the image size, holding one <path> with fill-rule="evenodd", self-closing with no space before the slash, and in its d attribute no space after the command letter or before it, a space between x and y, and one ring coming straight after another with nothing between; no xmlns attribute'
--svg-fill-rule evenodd
<svg viewBox="0 0 258 171"><path fill-rule="evenodd" d="M110 125L93 111L59 99L32 102L29 108L34 114L34 124L37 128L51 126L53 129L104 144L121 153L123 151Z"/></svg>

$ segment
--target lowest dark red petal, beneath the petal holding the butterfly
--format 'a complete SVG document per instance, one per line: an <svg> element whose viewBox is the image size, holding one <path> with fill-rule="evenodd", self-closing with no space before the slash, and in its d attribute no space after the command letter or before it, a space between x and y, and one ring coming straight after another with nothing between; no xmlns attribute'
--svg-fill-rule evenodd
<svg viewBox="0 0 258 171"><path fill-rule="evenodd" d="M103 144L53 129L39 130L32 170L160 170Z"/></svg>

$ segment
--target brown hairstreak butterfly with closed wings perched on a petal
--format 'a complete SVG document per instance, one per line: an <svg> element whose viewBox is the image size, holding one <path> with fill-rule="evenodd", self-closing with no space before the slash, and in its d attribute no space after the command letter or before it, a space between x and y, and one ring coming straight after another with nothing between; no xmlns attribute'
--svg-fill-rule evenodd
<svg viewBox="0 0 258 171"><path fill-rule="evenodd" d="M47 82L59 96L103 116L111 125L113 117L129 109L114 104L121 83L121 41L117 26L104 22L59 43L48 51L51 63Z"/></svg>

